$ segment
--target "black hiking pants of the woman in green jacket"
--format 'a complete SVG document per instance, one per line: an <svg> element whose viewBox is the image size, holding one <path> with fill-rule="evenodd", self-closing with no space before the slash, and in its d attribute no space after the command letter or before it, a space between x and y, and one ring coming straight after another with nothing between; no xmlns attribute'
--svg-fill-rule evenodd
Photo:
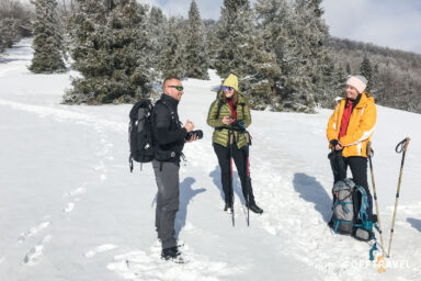
<svg viewBox="0 0 421 281"><path fill-rule="evenodd" d="M230 157L229 147L225 147L214 143L214 150L218 157L220 167L220 178L223 183L223 191L225 194L225 203L231 203L231 170L230 170ZM249 175L249 146L243 146L238 149L237 144L232 144L232 159L236 164L238 176L241 181L242 195L244 196L246 203L249 201L250 204L254 204L254 195L251 187L251 180ZM248 200L249 195L249 200Z"/></svg>

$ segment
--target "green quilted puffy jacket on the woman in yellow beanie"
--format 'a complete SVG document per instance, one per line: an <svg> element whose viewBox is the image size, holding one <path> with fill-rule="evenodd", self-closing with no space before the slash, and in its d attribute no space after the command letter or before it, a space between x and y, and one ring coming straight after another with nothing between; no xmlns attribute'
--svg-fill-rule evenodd
<svg viewBox="0 0 421 281"><path fill-rule="evenodd" d="M244 128L251 124L251 114L250 106L247 103L246 97L241 92L237 92L238 103L237 103L237 121L244 123ZM221 102L219 115L218 114L218 103ZM228 132L232 131L234 136L237 142L237 147L241 148L247 145L247 139L244 133L234 130L232 125L225 125L223 123L224 116L230 116L231 109L229 108L228 102L225 100L224 92L218 93L218 99L216 99L209 108L209 113L207 114L207 124L212 127L215 127L213 142L225 147L228 146Z"/></svg>

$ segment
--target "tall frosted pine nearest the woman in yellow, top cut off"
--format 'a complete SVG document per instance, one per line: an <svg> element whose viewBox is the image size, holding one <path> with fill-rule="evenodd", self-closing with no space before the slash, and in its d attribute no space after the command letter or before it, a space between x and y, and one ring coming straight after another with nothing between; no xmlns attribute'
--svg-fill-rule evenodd
<svg viewBox="0 0 421 281"><path fill-rule="evenodd" d="M331 66L326 42L329 30L321 19L321 0L296 0L287 24L283 61L288 69L284 81L284 110L314 112L316 103L329 99L323 79ZM285 67L283 68L285 69Z"/></svg>

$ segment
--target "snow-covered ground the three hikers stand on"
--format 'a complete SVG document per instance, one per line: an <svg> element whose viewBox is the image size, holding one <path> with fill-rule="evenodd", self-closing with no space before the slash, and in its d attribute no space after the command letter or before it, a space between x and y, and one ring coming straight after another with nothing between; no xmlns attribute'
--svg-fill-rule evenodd
<svg viewBox="0 0 421 281"><path fill-rule="evenodd" d="M220 79L210 72L209 81L183 81L181 120L192 120L204 138L184 150L177 231L190 262L175 265L159 258L151 167L128 170L130 105L62 105L77 74L33 75L31 57L31 41L23 40L0 58L2 281L421 280L421 115L378 106L373 164L386 248L401 160L395 146L412 140L391 257L377 263L368 260L368 244L327 226L330 110L252 112L251 176L264 214L251 214L247 226L235 175L232 227L206 125Z"/></svg>

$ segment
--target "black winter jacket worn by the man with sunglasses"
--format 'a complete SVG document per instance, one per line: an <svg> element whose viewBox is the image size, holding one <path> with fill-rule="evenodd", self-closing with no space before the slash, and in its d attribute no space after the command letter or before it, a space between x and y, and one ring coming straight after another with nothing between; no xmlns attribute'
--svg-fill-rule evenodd
<svg viewBox="0 0 421 281"><path fill-rule="evenodd" d="M178 100L164 93L155 104L152 134L155 159L158 161L180 162L187 131L179 120L178 105Z"/></svg>

